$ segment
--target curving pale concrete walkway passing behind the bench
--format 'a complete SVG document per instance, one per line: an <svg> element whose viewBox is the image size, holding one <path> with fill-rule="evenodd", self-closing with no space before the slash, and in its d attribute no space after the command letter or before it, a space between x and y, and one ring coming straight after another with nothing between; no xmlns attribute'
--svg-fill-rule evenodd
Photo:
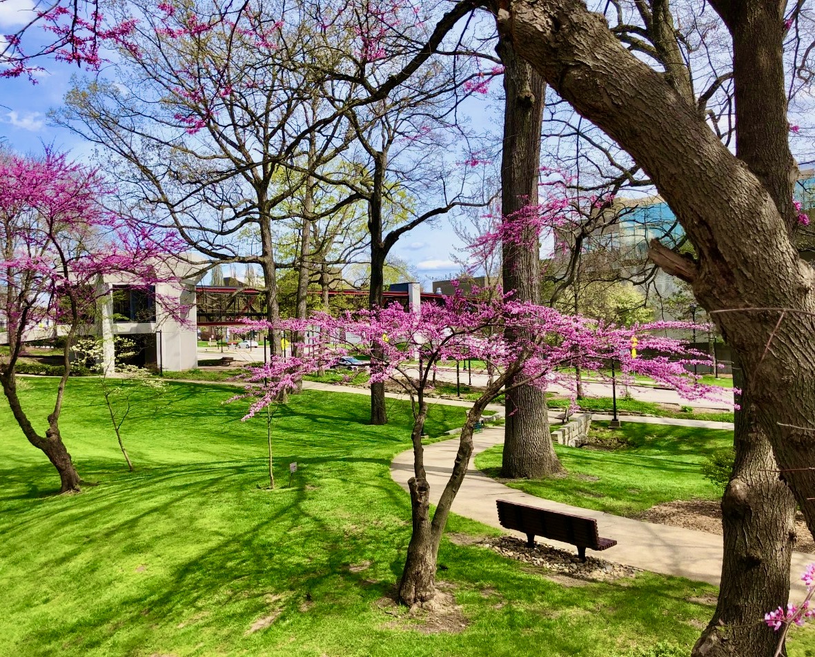
<svg viewBox="0 0 815 657"><path fill-rule="evenodd" d="M638 418L644 419L644 418ZM491 427L474 437L474 455L487 448L504 442L504 428ZM445 440L425 447L425 469L430 483L431 499L435 503L441 495L444 484L450 476L452 464L456 460L458 440ZM394 480L407 491L407 479L413 476L413 453L402 452L390 466ZM670 527L640 520L623 518L592 509L561 504L540 497L527 495L509 486L496 482L474 468L470 461L469 472L461 485L453 503L456 514L478 520L491 527L500 527L496 513L496 500L511 500L520 504L552 509L566 514L582 515L597 520L600 536L618 541L615 547L601 553L593 553L611 562L623 563L646 571L663 575L679 575L689 580L700 580L709 584L719 584L721 573L721 536L706 531L693 531L681 527ZM504 530L507 531L507 530ZM522 536L518 532L508 533ZM575 552L572 545L564 545L553 540L537 540ZM591 551L589 553L592 553ZM805 594L800 576L808 563L815 561L815 555L793 553L791 567L791 600L800 599Z"/></svg>

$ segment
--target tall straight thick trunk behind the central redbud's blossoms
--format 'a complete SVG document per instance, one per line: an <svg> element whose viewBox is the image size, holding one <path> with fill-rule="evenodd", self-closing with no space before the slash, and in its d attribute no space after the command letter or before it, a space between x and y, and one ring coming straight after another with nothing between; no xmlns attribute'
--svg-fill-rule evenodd
<svg viewBox="0 0 815 657"><path fill-rule="evenodd" d="M504 143L501 156L501 214L518 214L538 205L540 130L544 117L544 80L513 51L503 36L496 48L504 63ZM504 291L513 299L540 303L541 271L533 228L522 244L504 242ZM511 333L512 329L507 329ZM512 340L512 336L508 336ZM507 381L512 386L513 381ZM546 395L535 386L506 394L506 438L501 476L542 478L562 470L549 433Z"/></svg>

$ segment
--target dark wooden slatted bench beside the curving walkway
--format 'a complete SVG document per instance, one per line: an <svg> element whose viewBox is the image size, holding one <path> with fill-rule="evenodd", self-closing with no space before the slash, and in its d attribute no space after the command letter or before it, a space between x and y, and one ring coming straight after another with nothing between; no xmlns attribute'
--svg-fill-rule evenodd
<svg viewBox="0 0 815 657"><path fill-rule="evenodd" d="M585 561L586 548L601 550L617 545L616 540L597 536L597 520L593 518L559 514L506 500L496 500L496 503L501 527L522 531L530 548L535 547L535 536L543 536L576 545L580 561Z"/></svg>

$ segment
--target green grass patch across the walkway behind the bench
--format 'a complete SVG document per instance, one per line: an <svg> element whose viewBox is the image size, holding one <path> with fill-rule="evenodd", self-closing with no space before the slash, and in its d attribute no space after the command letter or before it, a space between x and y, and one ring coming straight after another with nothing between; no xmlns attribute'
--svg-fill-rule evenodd
<svg viewBox="0 0 815 657"><path fill-rule="evenodd" d="M684 426L625 423L619 430L593 422L592 430L624 439L613 452L555 446L568 471L564 478L509 483L531 495L566 504L633 516L672 500L716 500L720 490L702 476L705 457L733 444L733 432ZM475 465L493 477L500 473L502 446L476 457ZM597 478L597 480L594 480Z"/></svg>

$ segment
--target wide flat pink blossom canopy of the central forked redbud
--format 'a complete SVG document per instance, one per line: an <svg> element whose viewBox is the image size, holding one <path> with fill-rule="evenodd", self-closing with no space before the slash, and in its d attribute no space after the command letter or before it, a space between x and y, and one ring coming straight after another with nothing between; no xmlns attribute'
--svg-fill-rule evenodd
<svg viewBox="0 0 815 657"><path fill-rule="evenodd" d="M319 340L302 342L297 358L273 357L260 368L249 368L240 399L253 399L245 419L291 390L303 375L355 354L370 359L370 381L400 381L415 394L430 389L430 373L446 360L482 359L499 371L509 368L522 381L546 388L566 383L571 376L558 368L581 365L600 370L614 359L624 375L644 374L670 386L688 399L714 398L716 386L703 386L689 375L685 365L709 360L689 351L679 340L661 337L677 323L654 323L634 328L601 324L578 316L563 315L548 306L515 302L500 293L488 298L465 297L456 292L443 303L423 303L419 311L406 311L399 304L373 310L348 311L339 317L316 313L307 320L245 322L246 329L279 329L317 334ZM684 328L686 324L681 324ZM511 327L511 331L504 329ZM659 351L654 358L634 358L632 337L639 348ZM419 359L419 377L412 373Z"/></svg>

